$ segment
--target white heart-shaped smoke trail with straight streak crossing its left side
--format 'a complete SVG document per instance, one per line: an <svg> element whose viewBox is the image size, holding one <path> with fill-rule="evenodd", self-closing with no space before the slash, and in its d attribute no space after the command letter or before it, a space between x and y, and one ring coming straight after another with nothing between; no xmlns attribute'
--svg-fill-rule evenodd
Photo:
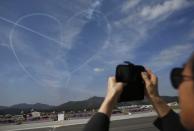
<svg viewBox="0 0 194 131"><path fill-rule="evenodd" d="M106 23L107 23L107 25L108 25L108 36L109 36L107 41L109 41L109 40L110 40L110 33L111 33L110 22L108 21L107 17L106 17L102 12L96 11L96 10L94 10L93 12L96 12L96 13L101 14L101 15L103 16L104 20L106 21ZM68 24L69 22L71 22L72 19L73 19L74 17L77 17L77 16L79 16L79 15L82 14L82 13L88 13L88 10L83 10L83 11L81 11L81 12L76 13L75 15L73 15L71 18L69 18L69 19L67 20L66 24ZM39 36L41 36L41 37L43 37L43 38L45 38L45 39L51 40L51 41L53 41L53 42L55 42L55 43L58 43L58 44L64 44L64 43L61 42L61 41L55 40L55 39L53 39L53 38L51 38L51 37L49 37L49 36L47 36L47 35L44 35L44 34L42 34L42 33L40 33L40 32L37 32L37 31L35 31L35 30L31 29L31 28L28 28L28 27L26 27L26 26L23 26L23 25L19 24L20 21L22 21L22 20L25 19L25 18L31 17L31 16L46 16L46 17L49 17L49 18L53 19L53 20L56 21L60 26L62 26L62 23L61 23L61 21L60 21L59 19L57 19L56 17L54 17L54 16L52 16L52 15L45 14L45 13L32 13L32 14L27 14L27 15L24 15L24 16L20 17L16 22L13 22L13 21L11 21L11 20L9 20L9 19L6 19L6 18L4 18L4 17L1 17L1 16L0 16L0 19L14 25L13 28L12 28L12 30L10 31L10 34L9 34L10 48L11 48L11 50L12 50L12 52L13 52L13 54L14 54L16 60L17 60L17 62L19 63L19 65L21 66L21 68L24 70L24 72L25 72L30 78L32 78L36 83L39 83L39 84L40 84L39 80L36 79L36 78L35 78L35 77L34 77L34 76L26 69L26 67L22 64L22 62L20 61L19 57L18 57L17 54L16 54L16 51L15 51L14 46L13 46L13 41L12 41L13 33L14 33L15 28L16 28L16 27L20 27L20 28L22 28L22 29L25 29L25 30L27 30L27 31L30 31L30 32L32 32L32 33L34 33L34 34L37 34L37 35L39 35ZM62 28L61 28L61 29L62 29ZM61 31L61 32L62 32L62 31ZM62 33L61 33L61 34L62 34ZM104 46L102 47L102 49L105 48L105 47L107 47L108 44L109 44L109 42L106 42L106 43L104 44ZM94 57L96 57L96 55L98 55L99 52L100 52L100 50L97 51L97 53L94 54L93 56L91 56L89 59L87 59L83 64L79 65L76 69L74 69L73 71L70 72L70 75L67 76L67 81L66 81L66 86L65 86L65 87L68 86L68 83L69 83L69 81L70 81L70 79L71 79L71 75L72 75L73 73L75 73L76 71L80 70L80 69L81 69L83 66L85 66L86 64L88 64L92 59L94 59ZM41 83L41 85L42 85L42 83Z"/></svg>

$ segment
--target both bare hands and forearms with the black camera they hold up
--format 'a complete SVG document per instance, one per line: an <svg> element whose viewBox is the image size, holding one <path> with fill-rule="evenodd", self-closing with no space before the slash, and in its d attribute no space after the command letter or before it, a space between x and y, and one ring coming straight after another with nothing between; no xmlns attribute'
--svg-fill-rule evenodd
<svg viewBox="0 0 194 131"><path fill-rule="evenodd" d="M110 77L108 80L107 95L99 112L110 117L117 102L143 100L144 95L154 105L164 105L161 104L164 102L159 97L157 85L157 77L151 70L146 70L143 66L130 62L120 64L116 67L115 77ZM158 111L163 116L168 108L161 109L165 109L165 111Z"/></svg>

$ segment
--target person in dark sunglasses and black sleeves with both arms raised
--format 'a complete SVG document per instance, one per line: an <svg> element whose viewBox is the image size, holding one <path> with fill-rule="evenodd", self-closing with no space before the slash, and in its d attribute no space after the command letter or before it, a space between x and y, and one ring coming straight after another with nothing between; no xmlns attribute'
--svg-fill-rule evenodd
<svg viewBox="0 0 194 131"><path fill-rule="evenodd" d="M172 70L171 82L178 89L180 116L174 112L158 93L157 76L149 69L141 73L145 82L145 96L153 105L158 118L153 124L161 131L194 130L194 52L187 63ZM84 131L108 131L112 110L117 104L124 83L115 77L108 79L107 94L98 112L85 125Z"/></svg>

